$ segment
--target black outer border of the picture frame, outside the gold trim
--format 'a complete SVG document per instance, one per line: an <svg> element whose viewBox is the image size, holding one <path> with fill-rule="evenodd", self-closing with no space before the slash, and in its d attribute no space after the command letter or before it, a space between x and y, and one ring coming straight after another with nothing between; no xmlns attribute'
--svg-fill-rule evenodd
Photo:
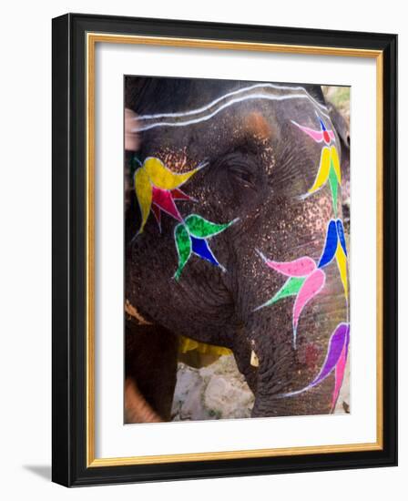
<svg viewBox="0 0 408 501"><path fill-rule="evenodd" d="M93 486L397 465L397 36L81 14L52 27L52 480ZM382 51L382 450L87 467L87 32Z"/></svg>

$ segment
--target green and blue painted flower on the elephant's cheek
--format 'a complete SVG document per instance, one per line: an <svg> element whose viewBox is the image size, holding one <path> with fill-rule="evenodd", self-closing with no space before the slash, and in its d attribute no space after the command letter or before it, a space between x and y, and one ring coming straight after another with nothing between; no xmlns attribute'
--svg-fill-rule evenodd
<svg viewBox="0 0 408 501"><path fill-rule="evenodd" d="M200 259L209 261L214 266L219 266L222 271L225 268L219 264L217 258L209 248L208 240L215 235L218 235L237 220L232 220L225 224L216 224L205 220L197 214L190 214L186 220L178 224L174 230L174 240L179 256L179 268L176 271L174 278L179 281L181 271L186 266L191 254L195 254Z"/></svg>

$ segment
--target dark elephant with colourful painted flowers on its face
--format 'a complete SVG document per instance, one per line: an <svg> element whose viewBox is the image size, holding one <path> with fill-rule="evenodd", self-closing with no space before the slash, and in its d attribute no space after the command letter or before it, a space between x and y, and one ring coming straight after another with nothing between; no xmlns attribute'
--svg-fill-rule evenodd
<svg viewBox="0 0 408 501"><path fill-rule="evenodd" d="M252 417L330 414L350 338L350 139L321 87L126 77L125 94L140 140L127 153L125 400L151 418L128 421L170 419L179 336L230 349Z"/></svg>

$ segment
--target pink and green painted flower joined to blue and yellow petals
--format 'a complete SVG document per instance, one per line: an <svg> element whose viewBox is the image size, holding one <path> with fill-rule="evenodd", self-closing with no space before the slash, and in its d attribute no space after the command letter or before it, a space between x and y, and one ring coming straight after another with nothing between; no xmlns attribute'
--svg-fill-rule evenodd
<svg viewBox="0 0 408 501"><path fill-rule="evenodd" d="M322 270L335 258L340 271L344 294L347 298L347 250L344 238L342 220L330 220L327 226L324 249L319 263L308 256L294 261L271 261L258 251L260 257L272 270L288 277L279 291L267 302L261 304L255 311L270 306L284 298L295 296L292 313L293 346L296 347L296 337L301 312L308 302L319 294L326 282L326 274Z"/></svg>

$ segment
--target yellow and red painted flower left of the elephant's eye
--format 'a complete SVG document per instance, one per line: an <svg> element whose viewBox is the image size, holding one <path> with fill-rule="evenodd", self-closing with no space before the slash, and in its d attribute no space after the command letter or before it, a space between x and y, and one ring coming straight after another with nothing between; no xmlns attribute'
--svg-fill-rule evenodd
<svg viewBox="0 0 408 501"><path fill-rule="evenodd" d="M153 212L158 227L161 230L161 212L166 212L175 220L182 221L176 200L191 200L179 187L196 174L203 166L182 174L168 169L161 160L154 157L146 158L143 165L136 170L134 182L141 212L141 233L148 220L150 210Z"/></svg>

